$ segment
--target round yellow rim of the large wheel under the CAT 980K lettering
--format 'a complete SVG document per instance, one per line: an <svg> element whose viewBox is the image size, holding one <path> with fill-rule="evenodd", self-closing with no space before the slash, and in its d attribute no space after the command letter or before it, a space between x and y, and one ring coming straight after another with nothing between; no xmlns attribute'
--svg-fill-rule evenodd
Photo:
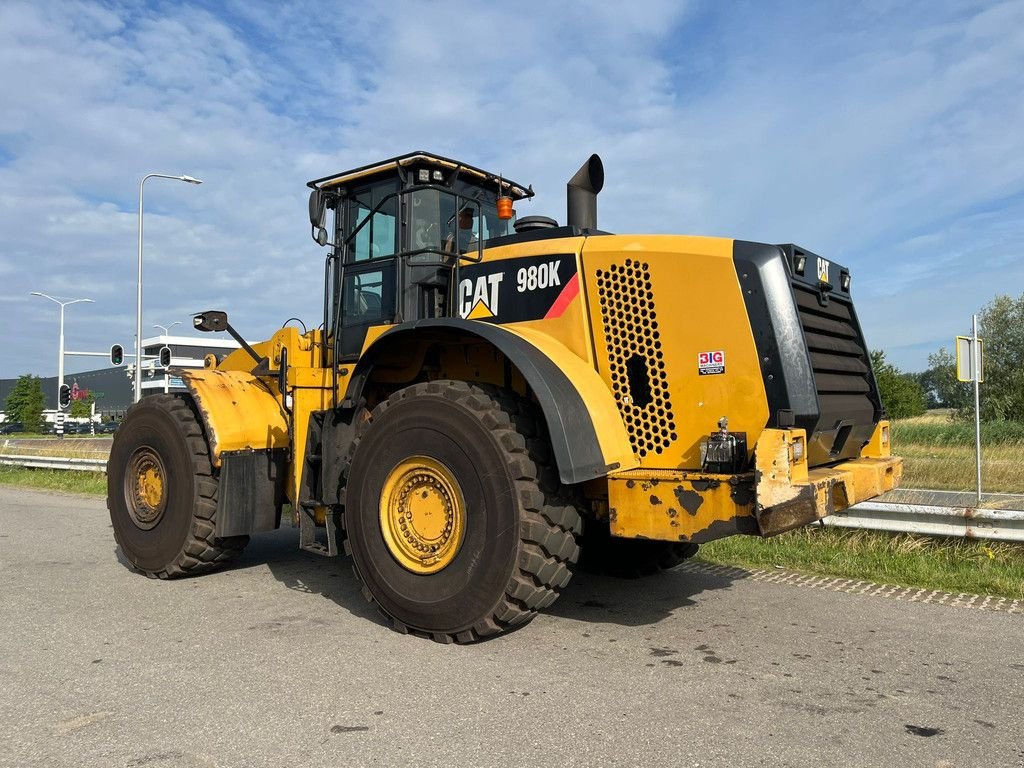
<svg viewBox="0 0 1024 768"><path fill-rule="evenodd" d="M466 502L452 470L413 456L388 473L381 490L381 532L391 556L414 573L436 573L459 553Z"/></svg>

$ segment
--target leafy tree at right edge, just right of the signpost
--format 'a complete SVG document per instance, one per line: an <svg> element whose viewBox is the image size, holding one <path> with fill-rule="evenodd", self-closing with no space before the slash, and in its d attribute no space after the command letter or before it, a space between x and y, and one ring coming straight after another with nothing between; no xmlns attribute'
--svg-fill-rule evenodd
<svg viewBox="0 0 1024 768"><path fill-rule="evenodd" d="M985 340L981 418L1024 421L1024 294L996 296L978 319Z"/></svg>

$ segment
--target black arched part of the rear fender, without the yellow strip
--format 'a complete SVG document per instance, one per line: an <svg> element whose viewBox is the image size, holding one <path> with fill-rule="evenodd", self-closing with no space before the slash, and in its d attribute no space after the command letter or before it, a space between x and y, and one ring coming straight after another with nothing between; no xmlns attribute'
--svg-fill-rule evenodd
<svg viewBox="0 0 1024 768"><path fill-rule="evenodd" d="M353 408L373 370L375 349L399 341L400 335L435 331L476 336L494 344L509 358L537 395L551 435L551 447L561 481L566 484L603 477L611 469L604 463L590 411L569 378L547 356L518 336L499 326L457 317L403 323L382 334L359 359L345 393L343 408Z"/></svg>

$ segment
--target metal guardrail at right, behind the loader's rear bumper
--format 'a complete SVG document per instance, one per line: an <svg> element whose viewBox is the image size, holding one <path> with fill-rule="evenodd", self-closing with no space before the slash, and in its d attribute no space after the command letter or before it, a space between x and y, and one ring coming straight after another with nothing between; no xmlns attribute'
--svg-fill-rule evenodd
<svg viewBox="0 0 1024 768"><path fill-rule="evenodd" d="M821 522L839 528L1024 542L1024 511L1013 509L864 502Z"/></svg>

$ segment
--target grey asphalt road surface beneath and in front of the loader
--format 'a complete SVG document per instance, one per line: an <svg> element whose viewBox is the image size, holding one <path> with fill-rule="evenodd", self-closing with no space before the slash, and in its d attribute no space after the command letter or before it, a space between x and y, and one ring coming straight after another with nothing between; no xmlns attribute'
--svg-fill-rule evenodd
<svg viewBox="0 0 1024 768"><path fill-rule="evenodd" d="M0 765L1024 766L1020 614L583 574L442 646L296 545L154 582L101 500L0 488Z"/></svg>

